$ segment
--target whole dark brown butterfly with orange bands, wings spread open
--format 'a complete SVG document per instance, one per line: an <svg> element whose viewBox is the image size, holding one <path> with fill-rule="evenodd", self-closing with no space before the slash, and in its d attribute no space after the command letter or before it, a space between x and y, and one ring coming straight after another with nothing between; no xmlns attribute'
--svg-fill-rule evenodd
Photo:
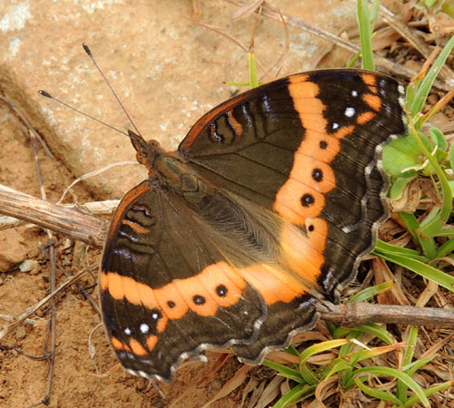
<svg viewBox="0 0 454 408"><path fill-rule="evenodd" d="M223 102L177 151L128 131L149 177L116 209L99 280L126 371L171 381L227 347L259 364L315 325L388 216L380 156L402 106L389 76L321 70Z"/></svg>

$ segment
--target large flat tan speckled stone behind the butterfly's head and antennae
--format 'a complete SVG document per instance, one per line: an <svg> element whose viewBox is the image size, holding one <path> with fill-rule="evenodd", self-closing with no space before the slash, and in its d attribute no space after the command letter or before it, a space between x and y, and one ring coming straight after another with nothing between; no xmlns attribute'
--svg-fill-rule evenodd
<svg viewBox="0 0 454 408"><path fill-rule="evenodd" d="M321 7L319 0L280 0L274 5L285 15L332 33L355 24L354 2L322 3ZM194 121L232 96L236 87L222 82L248 78L247 53L192 22L196 18L226 30L232 26L232 35L248 46L255 16L232 23L237 9L222 0L2 2L0 88L74 177L114 161L134 160L125 136L36 92L45 89L122 131L130 128L82 49L82 43L89 44L145 139L157 139L173 150ZM323 47L330 45L295 27L289 26L289 31L290 49L280 76L314 68ZM255 33L260 62L271 67L284 44L281 22L262 17ZM142 167L126 165L86 183L100 199L119 198L144 177Z"/></svg>

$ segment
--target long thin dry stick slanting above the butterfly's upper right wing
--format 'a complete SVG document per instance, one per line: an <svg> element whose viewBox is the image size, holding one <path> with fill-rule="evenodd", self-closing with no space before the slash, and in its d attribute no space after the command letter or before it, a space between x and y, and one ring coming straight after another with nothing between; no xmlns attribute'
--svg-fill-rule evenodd
<svg viewBox="0 0 454 408"><path fill-rule="evenodd" d="M241 0L226 0L228 3L231 3L233 5L245 5L246 3ZM271 10L266 3L263 5L262 8L262 15L268 18L272 18L273 20L281 20L281 16L276 13L275 11ZM360 51L360 46L350 43L350 41L344 40L341 37L337 36L336 34L332 34L328 31L321 30L318 28L315 28L311 26L310 24L304 23L302 20L296 17L292 17L291 15L283 15L284 18L287 21L287 24L292 25L302 31L305 31L310 34L317 35L318 37L321 37L333 44L339 45L341 48L344 48L350 53L358 53ZM398 63L393 63L390 60L380 57L378 55L374 56L374 61L378 65L381 65L382 67L386 68L390 73L395 73L395 74L400 74L405 78L413 78L415 77L418 73L414 70L411 70L410 68L400 65ZM447 78L446 83L442 83L441 81L437 80L434 83L434 86L437 88L449 92L449 90L454 86L454 80L452 78Z"/></svg>

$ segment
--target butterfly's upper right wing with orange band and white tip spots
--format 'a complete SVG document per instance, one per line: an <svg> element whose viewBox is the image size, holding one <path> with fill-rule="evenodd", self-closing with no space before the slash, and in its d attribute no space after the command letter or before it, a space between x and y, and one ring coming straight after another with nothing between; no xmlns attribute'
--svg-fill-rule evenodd
<svg viewBox="0 0 454 408"><path fill-rule="evenodd" d="M402 101L379 73L296 74L214 108L178 151L206 180L301 228L298 242L281 232L283 262L333 299L387 216L380 151L405 131Z"/></svg>

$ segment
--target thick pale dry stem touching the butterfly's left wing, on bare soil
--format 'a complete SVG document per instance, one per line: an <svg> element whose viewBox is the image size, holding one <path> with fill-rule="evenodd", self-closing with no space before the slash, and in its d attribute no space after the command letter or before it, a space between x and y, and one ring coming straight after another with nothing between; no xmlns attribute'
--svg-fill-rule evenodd
<svg viewBox="0 0 454 408"><path fill-rule="evenodd" d="M0 189L0 213L103 248L106 223L77 209L68 209L18 191Z"/></svg>

